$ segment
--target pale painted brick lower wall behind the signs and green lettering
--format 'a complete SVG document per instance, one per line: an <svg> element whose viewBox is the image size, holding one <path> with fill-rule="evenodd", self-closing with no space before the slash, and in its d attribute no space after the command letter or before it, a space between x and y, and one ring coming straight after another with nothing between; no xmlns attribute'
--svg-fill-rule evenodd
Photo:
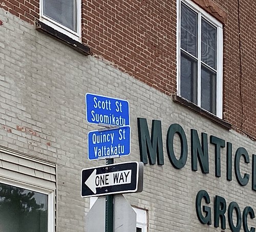
<svg viewBox="0 0 256 232"><path fill-rule="evenodd" d="M250 205L256 210L250 182L241 187L226 181L226 148L222 149L222 176L215 177L214 145L209 144L209 174L191 171L190 128L199 136L205 132L243 146L251 154L255 142L202 118L172 98L114 68L108 61L85 57L54 38L37 32L30 25L0 9L0 145L57 164L58 231L84 231L84 217L89 199L80 197L82 168L103 165L104 161L87 158L87 133L96 125L86 121L84 95L87 92L129 100L132 152L115 162L139 161L137 117L162 121L163 166L145 165L144 191L126 194L131 204L148 210L149 231L220 231L213 226L214 196L229 204L236 201L241 210ZM170 124L179 123L188 140L188 160L180 170L169 162L166 135ZM179 140L175 148L178 153ZM233 162L232 162L233 165ZM232 169L233 170L233 169ZM251 164L241 163L241 170L251 175ZM195 199L199 190L211 198L212 225L202 225ZM98 220L98 219L96 219ZM256 220L249 220L256 226ZM228 222L227 229L230 231ZM89 231L86 231L89 232Z"/></svg>

